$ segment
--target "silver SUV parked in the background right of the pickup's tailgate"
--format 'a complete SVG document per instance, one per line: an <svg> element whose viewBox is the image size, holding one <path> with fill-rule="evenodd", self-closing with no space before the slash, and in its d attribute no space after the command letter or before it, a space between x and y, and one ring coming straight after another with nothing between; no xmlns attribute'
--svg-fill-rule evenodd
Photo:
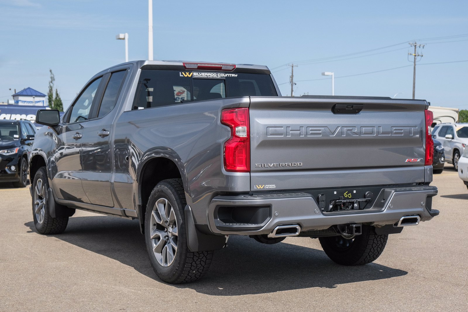
<svg viewBox="0 0 468 312"><path fill-rule="evenodd" d="M468 123L440 123L432 130L432 138L442 142L445 161L458 170L458 160L468 144Z"/></svg>

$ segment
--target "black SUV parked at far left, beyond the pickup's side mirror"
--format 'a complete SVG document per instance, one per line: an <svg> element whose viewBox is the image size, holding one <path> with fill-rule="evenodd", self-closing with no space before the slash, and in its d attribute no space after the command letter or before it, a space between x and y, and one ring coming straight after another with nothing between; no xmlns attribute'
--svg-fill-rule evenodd
<svg viewBox="0 0 468 312"><path fill-rule="evenodd" d="M0 120L0 182L28 185L28 158L36 127L27 120Z"/></svg>

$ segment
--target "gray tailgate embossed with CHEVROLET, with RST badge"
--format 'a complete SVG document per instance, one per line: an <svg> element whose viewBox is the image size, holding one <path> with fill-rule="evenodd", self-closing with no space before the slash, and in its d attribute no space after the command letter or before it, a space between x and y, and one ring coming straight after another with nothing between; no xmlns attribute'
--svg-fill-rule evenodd
<svg viewBox="0 0 468 312"><path fill-rule="evenodd" d="M336 105L345 106L338 111ZM251 190L424 182L426 105L390 98L251 97Z"/></svg>

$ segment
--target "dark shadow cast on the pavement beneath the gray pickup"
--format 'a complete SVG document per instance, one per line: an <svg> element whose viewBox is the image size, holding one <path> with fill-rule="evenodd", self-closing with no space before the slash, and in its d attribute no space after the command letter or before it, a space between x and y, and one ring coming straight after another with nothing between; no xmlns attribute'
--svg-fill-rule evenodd
<svg viewBox="0 0 468 312"><path fill-rule="evenodd" d="M25 225L36 232L33 222ZM120 261L161 282L151 268L137 220L105 216L70 218L66 231L53 237ZM228 247L215 251L203 279L174 287L212 296L238 296L312 287L332 289L341 284L406 274L376 263L344 267L329 260L322 250L284 242L263 245L249 237L232 236Z"/></svg>

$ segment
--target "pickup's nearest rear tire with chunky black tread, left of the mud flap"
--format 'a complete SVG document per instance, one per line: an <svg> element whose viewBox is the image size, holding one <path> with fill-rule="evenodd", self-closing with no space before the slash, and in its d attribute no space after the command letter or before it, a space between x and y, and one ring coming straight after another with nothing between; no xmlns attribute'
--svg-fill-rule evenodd
<svg viewBox="0 0 468 312"><path fill-rule="evenodd" d="M170 223L170 217L166 218L166 220L168 220L167 226L163 225L165 222L163 221L163 218L158 211L155 211L155 215L153 214L153 208L157 210L157 202L160 204L166 203L164 206L164 211L174 210L175 218L173 218L172 223ZM170 204L170 208L167 203ZM168 179L159 182L154 187L146 206L146 249L148 251L154 273L156 273L156 275L166 283L180 284L194 282L205 275L212 261L213 251L191 252L187 246L184 215L186 204L187 203L185 200L182 179ZM176 223L174 223L174 220ZM175 228L173 227L174 225L177 228L176 236L174 232L172 232L172 230ZM162 234L156 234L154 236L155 239L152 239L152 232L158 232ZM169 235L169 233L171 233L172 236ZM161 242L162 245L160 245ZM172 261L169 263L169 261L166 262L164 260L164 248L167 248L166 260L170 259L170 256L167 253L169 248L171 248L171 252L174 251L172 247L174 242L176 243L177 248L176 252L173 254ZM154 252L153 250L153 248L158 249L157 246L164 246L159 247L159 249L162 249L162 258L161 254ZM156 258L156 254L159 260Z"/></svg>

